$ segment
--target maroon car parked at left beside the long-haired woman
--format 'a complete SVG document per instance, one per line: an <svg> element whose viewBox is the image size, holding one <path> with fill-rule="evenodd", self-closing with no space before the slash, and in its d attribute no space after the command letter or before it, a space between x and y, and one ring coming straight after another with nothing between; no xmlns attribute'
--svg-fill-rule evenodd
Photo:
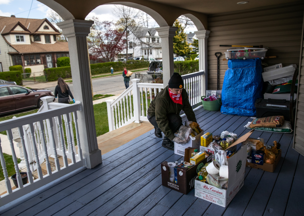
<svg viewBox="0 0 304 216"><path fill-rule="evenodd" d="M40 108L40 98L44 96L54 97L54 94L47 89L27 89L14 84L0 84L0 114L33 107Z"/></svg>

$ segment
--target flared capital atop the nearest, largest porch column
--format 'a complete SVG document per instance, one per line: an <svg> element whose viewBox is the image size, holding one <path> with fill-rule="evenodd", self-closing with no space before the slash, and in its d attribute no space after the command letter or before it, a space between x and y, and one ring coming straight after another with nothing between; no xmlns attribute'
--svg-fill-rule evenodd
<svg viewBox="0 0 304 216"><path fill-rule="evenodd" d="M94 24L92 20L69 19L60 23L56 23L62 29L62 34L66 37L88 36L90 28Z"/></svg>

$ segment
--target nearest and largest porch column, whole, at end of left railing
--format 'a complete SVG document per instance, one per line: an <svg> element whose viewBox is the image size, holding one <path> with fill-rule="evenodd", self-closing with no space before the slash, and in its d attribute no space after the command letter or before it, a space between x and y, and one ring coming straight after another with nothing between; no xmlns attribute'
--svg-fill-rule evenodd
<svg viewBox="0 0 304 216"><path fill-rule="evenodd" d="M87 36L94 22L91 20L70 19L57 26L68 38L71 71L75 100L81 102L82 111L78 112L78 129L83 157L87 168L102 163L101 150L98 149L91 91Z"/></svg>

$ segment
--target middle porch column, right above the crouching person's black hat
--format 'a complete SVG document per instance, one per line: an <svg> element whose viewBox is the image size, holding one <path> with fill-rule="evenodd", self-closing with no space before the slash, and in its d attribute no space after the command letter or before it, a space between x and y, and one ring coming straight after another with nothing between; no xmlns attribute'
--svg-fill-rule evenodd
<svg viewBox="0 0 304 216"><path fill-rule="evenodd" d="M174 73L173 61L173 37L178 28L165 26L155 28L162 39L162 56L163 56L163 86L168 86L169 79Z"/></svg>

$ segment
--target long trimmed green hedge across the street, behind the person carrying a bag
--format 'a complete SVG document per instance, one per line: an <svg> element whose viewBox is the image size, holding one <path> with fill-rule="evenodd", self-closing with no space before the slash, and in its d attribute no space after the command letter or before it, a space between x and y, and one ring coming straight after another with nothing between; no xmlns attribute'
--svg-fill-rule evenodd
<svg viewBox="0 0 304 216"><path fill-rule="evenodd" d="M60 57L61 58L61 57ZM59 59L59 58L58 58ZM128 70L149 67L149 61L117 61L91 64L91 74L104 74L110 73L111 67L114 71L122 71L124 67ZM72 78L71 67L56 67L44 69L45 78L47 81L56 81L59 77Z"/></svg>

